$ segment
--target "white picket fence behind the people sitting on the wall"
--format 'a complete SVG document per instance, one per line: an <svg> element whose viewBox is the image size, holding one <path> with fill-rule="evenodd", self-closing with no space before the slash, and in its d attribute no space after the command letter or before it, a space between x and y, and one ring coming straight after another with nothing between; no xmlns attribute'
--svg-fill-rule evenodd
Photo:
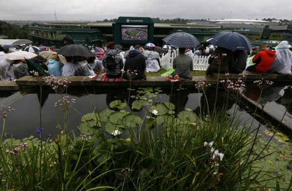
<svg viewBox="0 0 292 191"><path fill-rule="evenodd" d="M160 65L164 69L169 69L173 66L173 58L175 58L177 54L175 52L168 51L162 58L160 58ZM194 70L206 70L208 68L208 59L209 56L194 56L193 64Z"/></svg>

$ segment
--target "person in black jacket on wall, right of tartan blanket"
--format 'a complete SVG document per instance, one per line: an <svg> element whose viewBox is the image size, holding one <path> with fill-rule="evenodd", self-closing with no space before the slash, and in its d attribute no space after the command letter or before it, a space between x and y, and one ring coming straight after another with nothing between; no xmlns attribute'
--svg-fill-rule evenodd
<svg viewBox="0 0 292 191"><path fill-rule="evenodd" d="M128 70L131 72L136 70L137 75L134 80L146 80L146 60L141 54L143 51L144 49L140 44L136 45L133 50L129 51L126 56L123 78L128 79Z"/></svg>

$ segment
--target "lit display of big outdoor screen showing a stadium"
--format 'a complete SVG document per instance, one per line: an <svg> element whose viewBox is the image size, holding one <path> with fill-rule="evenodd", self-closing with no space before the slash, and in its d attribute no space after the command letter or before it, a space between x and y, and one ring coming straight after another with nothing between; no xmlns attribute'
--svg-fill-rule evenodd
<svg viewBox="0 0 292 191"><path fill-rule="evenodd" d="M121 25L122 40L147 40L147 25Z"/></svg>

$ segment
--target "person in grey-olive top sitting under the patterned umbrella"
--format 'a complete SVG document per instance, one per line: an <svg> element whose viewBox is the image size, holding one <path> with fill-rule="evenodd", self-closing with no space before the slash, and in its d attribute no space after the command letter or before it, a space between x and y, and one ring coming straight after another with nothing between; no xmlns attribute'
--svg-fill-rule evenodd
<svg viewBox="0 0 292 191"><path fill-rule="evenodd" d="M179 48L179 55L173 59L173 69L180 80L191 80L193 76L191 70L194 69L193 58L186 55L185 48Z"/></svg>

